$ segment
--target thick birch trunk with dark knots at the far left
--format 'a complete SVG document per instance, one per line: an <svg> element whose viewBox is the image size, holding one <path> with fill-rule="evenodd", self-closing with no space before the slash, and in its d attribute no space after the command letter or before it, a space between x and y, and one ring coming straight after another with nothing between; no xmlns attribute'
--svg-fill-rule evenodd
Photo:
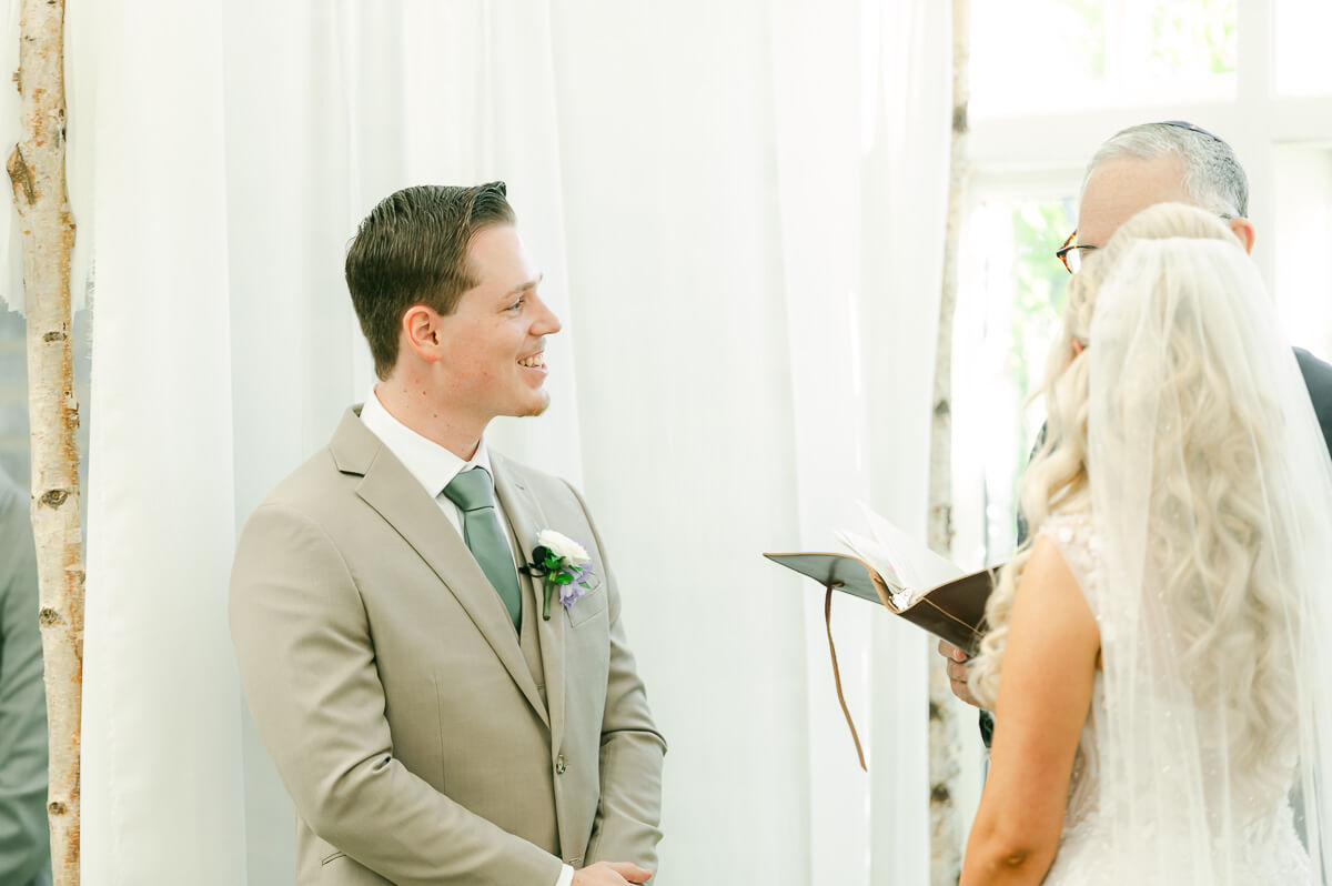
<svg viewBox="0 0 1332 886"><path fill-rule="evenodd" d="M83 703L84 561L79 518L65 193L64 0L23 0L19 72L23 135L7 164L23 226L32 428L32 529L41 588L41 652L51 741L51 866L79 883L79 745Z"/></svg>

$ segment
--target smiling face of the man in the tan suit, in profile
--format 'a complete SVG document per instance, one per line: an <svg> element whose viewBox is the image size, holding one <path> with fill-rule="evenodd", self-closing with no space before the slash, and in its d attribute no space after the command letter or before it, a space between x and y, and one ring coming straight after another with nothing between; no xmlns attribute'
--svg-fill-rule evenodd
<svg viewBox="0 0 1332 886"><path fill-rule="evenodd" d="M476 286L442 317L438 394L450 412L482 422L546 409L545 336L559 320L538 294L541 277L518 230L484 228L472 237L468 268Z"/></svg>

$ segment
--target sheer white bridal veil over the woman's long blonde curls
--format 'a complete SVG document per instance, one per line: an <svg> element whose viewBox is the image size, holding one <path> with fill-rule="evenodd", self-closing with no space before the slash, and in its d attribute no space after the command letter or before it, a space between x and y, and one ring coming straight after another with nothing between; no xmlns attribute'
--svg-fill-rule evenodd
<svg viewBox="0 0 1332 886"><path fill-rule="evenodd" d="M1200 209L1135 216L1074 286L1095 286L1094 790L1111 882L1241 883L1255 865L1324 882L1332 461L1296 358L1256 266Z"/></svg>

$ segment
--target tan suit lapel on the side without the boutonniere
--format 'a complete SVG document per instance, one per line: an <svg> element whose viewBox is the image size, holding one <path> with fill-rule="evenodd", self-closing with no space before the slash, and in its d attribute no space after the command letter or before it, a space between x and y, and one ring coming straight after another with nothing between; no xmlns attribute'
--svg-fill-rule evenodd
<svg viewBox="0 0 1332 886"><path fill-rule="evenodd" d="M338 469L362 474L357 494L374 508L434 570L490 644L542 722L550 726L537 683L527 670L509 613L472 552L440 505L376 437L348 410L330 446ZM549 689L547 689L549 691Z"/></svg>

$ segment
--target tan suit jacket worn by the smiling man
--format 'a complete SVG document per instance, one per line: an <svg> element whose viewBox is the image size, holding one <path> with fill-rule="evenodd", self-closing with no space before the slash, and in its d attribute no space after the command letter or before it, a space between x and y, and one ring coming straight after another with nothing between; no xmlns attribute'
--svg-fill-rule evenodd
<svg viewBox="0 0 1332 886"><path fill-rule="evenodd" d="M666 745L586 506L492 453L529 558L585 542L594 589L523 636L438 504L348 410L241 532L230 626L296 807L297 883L553 886L561 859L655 870Z"/></svg>

